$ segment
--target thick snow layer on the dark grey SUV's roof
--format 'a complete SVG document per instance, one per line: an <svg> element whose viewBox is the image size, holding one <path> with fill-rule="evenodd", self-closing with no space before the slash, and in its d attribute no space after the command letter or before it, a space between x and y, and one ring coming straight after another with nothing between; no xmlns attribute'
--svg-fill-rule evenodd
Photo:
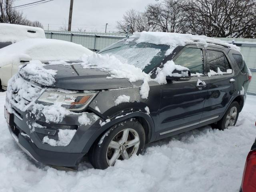
<svg viewBox="0 0 256 192"><path fill-rule="evenodd" d="M188 43L203 43L211 44L218 43L225 46L229 46L234 50L240 51L240 48L236 45L229 44L225 41L216 38L210 38L206 36L192 35L192 34L180 34L180 33L168 33L168 32L139 32L134 33L131 38L138 38L136 43L152 43L152 44L166 44L170 45L170 50L173 50L176 46L185 46ZM196 42L195 42L196 41ZM169 50L169 53L171 51Z"/></svg>

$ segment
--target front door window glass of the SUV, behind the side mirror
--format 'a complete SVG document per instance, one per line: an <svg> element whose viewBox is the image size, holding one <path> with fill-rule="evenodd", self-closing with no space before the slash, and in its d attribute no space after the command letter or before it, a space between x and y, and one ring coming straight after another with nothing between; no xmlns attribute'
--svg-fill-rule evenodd
<svg viewBox="0 0 256 192"><path fill-rule="evenodd" d="M189 68L191 74L203 73L203 56L199 48L187 48L174 60L176 65Z"/></svg>

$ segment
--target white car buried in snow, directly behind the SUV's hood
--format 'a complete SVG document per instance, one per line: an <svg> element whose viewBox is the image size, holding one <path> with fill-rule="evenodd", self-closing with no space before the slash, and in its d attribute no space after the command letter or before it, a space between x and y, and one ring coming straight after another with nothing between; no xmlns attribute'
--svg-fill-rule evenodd
<svg viewBox="0 0 256 192"><path fill-rule="evenodd" d="M6 90L8 80L26 61L77 60L92 51L72 42L34 38L25 39L0 50L0 89Z"/></svg>

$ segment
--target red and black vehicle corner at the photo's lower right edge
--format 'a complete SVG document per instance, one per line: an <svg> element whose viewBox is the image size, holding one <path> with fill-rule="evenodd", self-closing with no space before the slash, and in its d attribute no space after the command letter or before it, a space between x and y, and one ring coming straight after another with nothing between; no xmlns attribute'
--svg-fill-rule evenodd
<svg viewBox="0 0 256 192"><path fill-rule="evenodd" d="M255 122L256 126L256 122ZM240 192L256 191L256 140L246 158Z"/></svg>

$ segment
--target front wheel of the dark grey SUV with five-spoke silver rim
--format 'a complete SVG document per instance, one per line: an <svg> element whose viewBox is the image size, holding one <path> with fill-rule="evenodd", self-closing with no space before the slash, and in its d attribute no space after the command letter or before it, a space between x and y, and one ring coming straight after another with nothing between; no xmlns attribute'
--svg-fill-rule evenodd
<svg viewBox="0 0 256 192"><path fill-rule="evenodd" d="M94 168L106 169L113 166L116 159L124 160L135 153L140 154L144 146L144 128L138 121L128 119L112 126L94 142L89 160Z"/></svg>

